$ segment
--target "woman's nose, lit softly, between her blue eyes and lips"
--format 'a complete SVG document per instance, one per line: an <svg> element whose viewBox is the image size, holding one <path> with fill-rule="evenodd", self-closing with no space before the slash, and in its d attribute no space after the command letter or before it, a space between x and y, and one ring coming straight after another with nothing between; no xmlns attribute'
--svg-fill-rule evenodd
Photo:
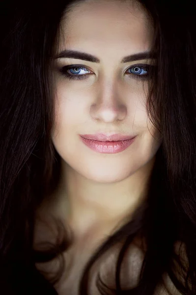
<svg viewBox="0 0 196 295"><path fill-rule="evenodd" d="M127 108L116 83L102 83L102 86L99 84L97 88L99 90L95 93L95 99L90 108L91 117L106 123L123 120L127 116Z"/></svg>

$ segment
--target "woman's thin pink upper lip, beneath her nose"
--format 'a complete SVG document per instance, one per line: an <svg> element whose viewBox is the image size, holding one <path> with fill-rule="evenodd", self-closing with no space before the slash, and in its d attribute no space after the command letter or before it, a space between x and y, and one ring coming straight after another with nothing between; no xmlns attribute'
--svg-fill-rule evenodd
<svg viewBox="0 0 196 295"><path fill-rule="evenodd" d="M83 138L91 139L91 140L97 140L97 141L123 141L123 140L130 140L136 136L134 135L122 135L122 134L112 134L107 135L103 133L97 133L97 134L84 134L81 135Z"/></svg>

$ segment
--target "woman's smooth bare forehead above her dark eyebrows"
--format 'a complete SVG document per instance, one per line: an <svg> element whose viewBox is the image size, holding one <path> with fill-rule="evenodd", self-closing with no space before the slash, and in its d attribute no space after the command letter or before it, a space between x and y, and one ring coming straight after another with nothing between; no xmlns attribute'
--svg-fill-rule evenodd
<svg viewBox="0 0 196 295"><path fill-rule="evenodd" d="M76 2L62 19L60 49L131 50L150 47L150 18L136 1L86 0Z"/></svg>

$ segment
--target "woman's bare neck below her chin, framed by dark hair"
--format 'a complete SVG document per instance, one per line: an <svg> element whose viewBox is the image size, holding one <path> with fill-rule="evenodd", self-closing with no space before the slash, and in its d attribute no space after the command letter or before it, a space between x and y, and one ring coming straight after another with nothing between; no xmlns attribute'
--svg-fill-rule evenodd
<svg viewBox="0 0 196 295"><path fill-rule="evenodd" d="M61 180L56 191L57 214L76 232L119 225L130 219L147 194L154 158L130 177L115 183L86 179L62 161Z"/></svg>

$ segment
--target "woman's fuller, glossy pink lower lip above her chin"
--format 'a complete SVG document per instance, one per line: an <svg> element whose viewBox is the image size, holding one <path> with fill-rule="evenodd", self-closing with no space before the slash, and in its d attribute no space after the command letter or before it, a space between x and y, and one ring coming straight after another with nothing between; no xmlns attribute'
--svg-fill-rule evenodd
<svg viewBox="0 0 196 295"><path fill-rule="evenodd" d="M100 142L97 140L91 140L86 139L81 136L81 139L88 148L91 148L92 150L99 152L99 153L118 153L126 148L128 148L135 140L136 137L129 139L129 140L123 140L123 141L107 141L107 142Z"/></svg>

